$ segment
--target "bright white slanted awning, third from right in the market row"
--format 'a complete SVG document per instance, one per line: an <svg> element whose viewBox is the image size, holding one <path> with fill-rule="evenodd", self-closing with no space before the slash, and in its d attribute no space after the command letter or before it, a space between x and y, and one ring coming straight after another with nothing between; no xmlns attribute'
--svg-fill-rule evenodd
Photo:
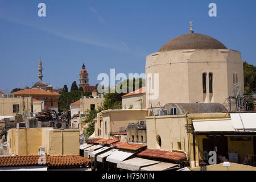
<svg viewBox="0 0 256 182"><path fill-rule="evenodd" d="M106 158L106 161L117 164L129 158L130 156L134 155L135 152L136 151L118 150L118 151L115 151L113 154L109 155Z"/></svg>

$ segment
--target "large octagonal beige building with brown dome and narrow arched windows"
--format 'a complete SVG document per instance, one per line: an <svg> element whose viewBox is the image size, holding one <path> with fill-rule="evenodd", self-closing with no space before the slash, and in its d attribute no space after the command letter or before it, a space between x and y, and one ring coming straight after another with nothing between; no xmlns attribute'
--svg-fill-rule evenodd
<svg viewBox="0 0 256 182"><path fill-rule="evenodd" d="M159 102L222 104L234 84L240 85L240 94L244 92L241 53L210 36L194 34L192 28L148 55L145 69L147 108L159 107Z"/></svg>

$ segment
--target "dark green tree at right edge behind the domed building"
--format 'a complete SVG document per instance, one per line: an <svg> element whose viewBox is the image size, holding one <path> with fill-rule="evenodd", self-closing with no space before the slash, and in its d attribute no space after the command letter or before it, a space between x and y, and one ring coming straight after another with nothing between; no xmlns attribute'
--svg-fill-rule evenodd
<svg viewBox="0 0 256 182"><path fill-rule="evenodd" d="M243 77L244 77L244 86L245 94L253 94L256 92L256 67L254 65L243 62Z"/></svg>

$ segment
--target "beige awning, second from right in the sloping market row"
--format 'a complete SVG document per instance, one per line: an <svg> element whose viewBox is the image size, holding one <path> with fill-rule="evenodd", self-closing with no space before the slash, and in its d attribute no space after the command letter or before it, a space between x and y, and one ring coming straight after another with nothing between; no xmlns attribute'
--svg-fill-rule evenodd
<svg viewBox="0 0 256 182"><path fill-rule="evenodd" d="M133 158L117 163L117 168L127 169L130 171L140 171L141 167L150 166L152 164L157 163L160 162L156 160L148 160L143 158Z"/></svg>

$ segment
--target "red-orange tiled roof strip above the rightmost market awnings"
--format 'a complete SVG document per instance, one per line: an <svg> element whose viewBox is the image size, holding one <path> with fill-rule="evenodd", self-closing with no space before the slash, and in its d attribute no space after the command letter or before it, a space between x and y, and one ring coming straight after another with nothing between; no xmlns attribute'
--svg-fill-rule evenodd
<svg viewBox="0 0 256 182"><path fill-rule="evenodd" d="M155 159L166 159L166 160L183 160L187 159L187 156L183 152L172 152L163 150L148 149L137 154L138 156L155 158Z"/></svg>

